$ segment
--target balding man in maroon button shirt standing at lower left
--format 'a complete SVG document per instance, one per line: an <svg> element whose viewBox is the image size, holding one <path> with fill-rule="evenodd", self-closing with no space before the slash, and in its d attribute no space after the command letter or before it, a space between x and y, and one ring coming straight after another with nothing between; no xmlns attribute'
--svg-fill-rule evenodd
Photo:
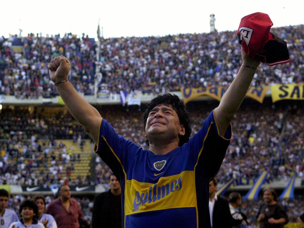
<svg viewBox="0 0 304 228"><path fill-rule="evenodd" d="M79 220L83 219L81 207L76 199L71 198L68 185L58 188L58 198L50 202L47 214L54 216L58 228L79 228Z"/></svg>

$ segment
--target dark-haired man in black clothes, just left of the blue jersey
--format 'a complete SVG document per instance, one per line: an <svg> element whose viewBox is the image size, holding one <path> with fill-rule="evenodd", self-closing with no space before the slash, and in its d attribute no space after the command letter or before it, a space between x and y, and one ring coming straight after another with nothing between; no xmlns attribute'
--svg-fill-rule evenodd
<svg viewBox="0 0 304 228"><path fill-rule="evenodd" d="M102 192L94 200L92 228L121 228L121 190L114 174L110 176L110 190Z"/></svg>

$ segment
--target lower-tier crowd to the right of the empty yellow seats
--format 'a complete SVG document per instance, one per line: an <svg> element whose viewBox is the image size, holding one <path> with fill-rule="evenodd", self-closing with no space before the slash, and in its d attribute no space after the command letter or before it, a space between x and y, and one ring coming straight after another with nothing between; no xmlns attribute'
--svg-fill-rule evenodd
<svg viewBox="0 0 304 228"><path fill-rule="evenodd" d="M217 175L219 183L226 183L231 178L254 179L265 167L269 168L268 181L288 180L293 172L304 177L303 105L298 103L297 107L292 107L285 104L254 105L250 102L240 107L232 122L230 146ZM192 135L199 131L204 118L216 107L216 103L209 107L201 106L188 104L192 116ZM118 115L119 118L110 110L101 111L101 114L119 135L147 148L141 112L123 112ZM292 150L288 149L289 145L294 145ZM96 161L97 182L107 182L107 175L104 174L109 170L104 168L106 165L98 157Z"/></svg>

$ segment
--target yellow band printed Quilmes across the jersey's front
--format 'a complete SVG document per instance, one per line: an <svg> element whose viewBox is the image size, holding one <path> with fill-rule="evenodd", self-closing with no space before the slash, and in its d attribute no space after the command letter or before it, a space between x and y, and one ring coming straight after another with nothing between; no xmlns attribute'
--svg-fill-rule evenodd
<svg viewBox="0 0 304 228"><path fill-rule="evenodd" d="M126 181L125 216L171 208L195 207L194 171L161 177L156 184Z"/></svg>

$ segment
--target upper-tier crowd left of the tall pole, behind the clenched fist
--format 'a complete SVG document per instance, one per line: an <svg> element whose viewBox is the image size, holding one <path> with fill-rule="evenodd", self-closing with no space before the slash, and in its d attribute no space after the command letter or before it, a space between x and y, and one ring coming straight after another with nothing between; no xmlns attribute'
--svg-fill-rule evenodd
<svg viewBox="0 0 304 228"><path fill-rule="evenodd" d="M0 93L22 99L57 95L50 81L47 63L58 55L65 55L70 59L70 80L78 92L92 95L95 42L88 36L77 38L71 33L63 37L60 34L46 37L41 34L0 37Z"/></svg>

